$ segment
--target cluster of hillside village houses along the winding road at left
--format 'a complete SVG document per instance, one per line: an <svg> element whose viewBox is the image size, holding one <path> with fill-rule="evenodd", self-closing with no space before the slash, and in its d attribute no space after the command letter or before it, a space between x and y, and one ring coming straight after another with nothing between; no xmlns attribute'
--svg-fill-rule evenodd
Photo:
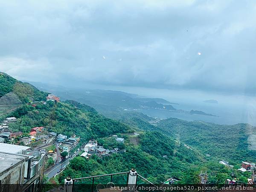
<svg viewBox="0 0 256 192"><path fill-rule="evenodd" d="M36 107L37 105L46 105L49 101L60 102L60 98L53 94L48 94L45 101L29 102L27 105ZM0 122L0 143L3 145L24 146L27 151L38 151L44 154L45 170L51 169L51 167L75 156L84 157L88 160L93 154L102 158L114 153L125 152L125 149L104 148L99 145L97 140L81 143L80 137L76 134L67 137L63 133L48 131L43 126L33 127L29 133L14 132L10 125L16 123L17 120L16 117L10 116ZM110 138L115 140L116 143L124 143L125 141L124 138L117 137L117 135L113 135ZM65 166L61 166L60 171L64 168Z"/></svg>

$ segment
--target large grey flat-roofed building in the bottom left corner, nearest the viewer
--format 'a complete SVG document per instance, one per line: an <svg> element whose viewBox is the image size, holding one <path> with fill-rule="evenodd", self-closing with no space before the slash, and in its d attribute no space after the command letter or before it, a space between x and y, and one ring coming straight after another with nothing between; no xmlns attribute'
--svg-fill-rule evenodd
<svg viewBox="0 0 256 192"><path fill-rule="evenodd" d="M41 190L44 154L27 151L27 149L29 147L0 143L0 185L2 192L38 192Z"/></svg>

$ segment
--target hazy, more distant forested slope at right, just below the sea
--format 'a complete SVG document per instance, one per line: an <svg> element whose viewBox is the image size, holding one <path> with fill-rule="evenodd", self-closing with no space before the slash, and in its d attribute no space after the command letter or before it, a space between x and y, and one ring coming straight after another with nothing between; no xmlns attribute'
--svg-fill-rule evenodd
<svg viewBox="0 0 256 192"><path fill-rule="evenodd" d="M157 129L216 160L227 160L231 165L241 164L241 161L254 162L256 159L256 151L249 149L247 141L256 127L249 124L218 125L169 118L160 121Z"/></svg>

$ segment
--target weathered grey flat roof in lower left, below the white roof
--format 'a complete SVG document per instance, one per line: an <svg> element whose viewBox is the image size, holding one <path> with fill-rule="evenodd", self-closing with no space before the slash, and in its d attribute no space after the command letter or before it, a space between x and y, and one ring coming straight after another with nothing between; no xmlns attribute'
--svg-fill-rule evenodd
<svg viewBox="0 0 256 192"><path fill-rule="evenodd" d="M1 143L0 143L1 144ZM25 160L28 156L21 155L21 154L11 154L0 152L0 173L5 171L11 166L19 163L20 161Z"/></svg>

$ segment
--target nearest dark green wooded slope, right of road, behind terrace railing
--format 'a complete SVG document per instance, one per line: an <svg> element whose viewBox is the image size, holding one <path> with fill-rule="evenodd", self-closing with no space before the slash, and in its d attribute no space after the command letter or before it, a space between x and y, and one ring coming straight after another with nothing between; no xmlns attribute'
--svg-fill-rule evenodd
<svg viewBox="0 0 256 192"><path fill-rule="evenodd" d="M112 154L104 158L93 156L90 160L75 157L71 160L70 166L57 177L58 181L63 182L67 175L73 178L104 175L127 171L132 167L154 183L163 182L172 176L180 178L180 183L198 183L198 174L201 171L207 171L210 183L225 183L227 178L231 178L232 169L216 161L205 160L197 151L177 143L164 134L156 131L145 132L139 137L139 145L125 143L125 153ZM113 147L110 142L105 143L108 143L106 147ZM164 158L162 155L168 157ZM250 173L235 171L235 175L240 181L247 182Z"/></svg>

